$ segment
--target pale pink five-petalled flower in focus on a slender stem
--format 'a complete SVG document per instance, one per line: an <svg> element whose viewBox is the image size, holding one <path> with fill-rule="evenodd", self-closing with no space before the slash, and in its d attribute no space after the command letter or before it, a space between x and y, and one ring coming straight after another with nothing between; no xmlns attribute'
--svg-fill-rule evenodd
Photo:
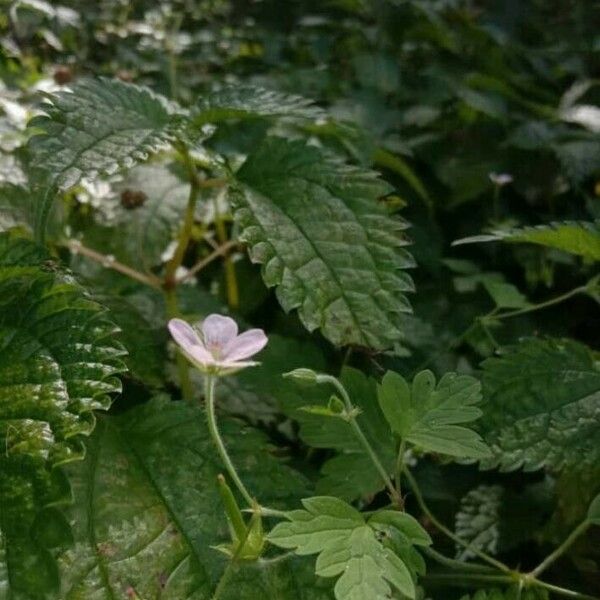
<svg viewBox="0 0 600 600"><path fill-rule="evenodd" d="M229 375L257 362L247 361L267 344L262 329L238 335L237 323L223 315L209 315L192 327L181 319L169 321L169 331L188 360L205 373Z"/></svg>

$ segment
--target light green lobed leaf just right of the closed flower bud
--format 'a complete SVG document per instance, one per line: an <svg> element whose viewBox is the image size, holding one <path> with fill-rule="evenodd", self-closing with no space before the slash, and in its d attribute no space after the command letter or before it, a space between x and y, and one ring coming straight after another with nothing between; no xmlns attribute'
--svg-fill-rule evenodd
<svg viewBox="0 0 600 600"><path fill-rule="evenodd" d="M412 386L388 371L378 387L381 410L392 431L429 452L459 458L483 458L489 449L478 433L460 426L481 416L479 381L468 375L446 373L436 386L431 371L421 371Z"/></svg>

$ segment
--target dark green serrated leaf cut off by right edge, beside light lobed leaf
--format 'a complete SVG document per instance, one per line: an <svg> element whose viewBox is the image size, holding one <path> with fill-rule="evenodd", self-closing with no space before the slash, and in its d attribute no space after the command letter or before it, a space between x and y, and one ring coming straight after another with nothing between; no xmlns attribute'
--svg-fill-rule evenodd
<svg viewBox="0 0 600 600"><path fill-rule="evenodd" d="M600 460L600 368L570 340L531 339L483 362L482 461L504 471L591 468Z"/></svg>

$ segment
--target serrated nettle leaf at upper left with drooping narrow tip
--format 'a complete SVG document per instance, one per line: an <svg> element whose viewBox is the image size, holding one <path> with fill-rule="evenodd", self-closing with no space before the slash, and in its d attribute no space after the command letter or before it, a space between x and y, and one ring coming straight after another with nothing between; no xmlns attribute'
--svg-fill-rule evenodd
<svg viewBox="0 0 600 600"><path fill-rule="evenodd" d="M56 189L82 177L130 168L168 146L181 109L148 88L94 79L48 96L45 114L29 123L31 163L47 174L46 195L36 207L36 231L46 225Z"/></svg>

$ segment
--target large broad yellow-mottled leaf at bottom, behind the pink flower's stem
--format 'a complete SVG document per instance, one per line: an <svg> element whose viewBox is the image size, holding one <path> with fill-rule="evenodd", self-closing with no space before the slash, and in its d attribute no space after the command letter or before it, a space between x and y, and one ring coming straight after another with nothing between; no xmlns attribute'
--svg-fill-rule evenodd
<svg viewBox="0 0 600 600"><path fill-rule="evenodd" d="M306 493L304 477L272 456L258 430L234 420L220 428L261 502L289 506ZM59 558L59 598L212 598L228 565L211 547L229 539L217 487L223 471L197 407L161 396L102 418L86 460L69 469L75 544ZM223 600L331 598L304 559L240 561L229 576Z"/></svg>

